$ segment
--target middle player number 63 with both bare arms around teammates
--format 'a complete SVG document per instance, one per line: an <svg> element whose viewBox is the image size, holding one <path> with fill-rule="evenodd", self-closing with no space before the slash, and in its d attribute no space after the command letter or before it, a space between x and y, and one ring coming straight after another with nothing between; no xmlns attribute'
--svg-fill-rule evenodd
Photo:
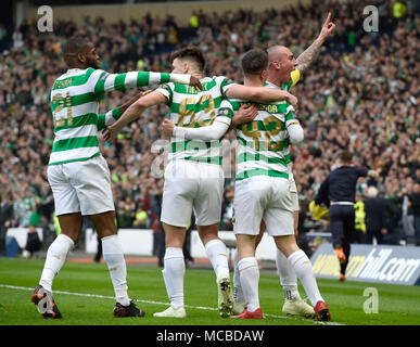
<svg viewBox="0 0 420 347"><path fill-rule="evenodd" d="M122 118L109 128L105 139L112 139L147 107L170 106L170 119L181 129L205 129L215 123L230 123L233 115L226 98L242 97L255 101L296 99L285 91L251 88L232 83L224 76L204 77L205 60L196 48L186 48L171 55L173 72L191 73L200 78L203 91L167 83L133 103ZM276 91L276 92L275 92ZM182 245L192 211L200 237L216 273L220 316L231 313L233 298L225 244L217 235L221 210L224 175L221 145L215 141L189 141L182 133L170 138L169 163L165 169L162 217L166 233L164 282L170 307L156 317L186 317L183 304L184 262Z"/></svg>

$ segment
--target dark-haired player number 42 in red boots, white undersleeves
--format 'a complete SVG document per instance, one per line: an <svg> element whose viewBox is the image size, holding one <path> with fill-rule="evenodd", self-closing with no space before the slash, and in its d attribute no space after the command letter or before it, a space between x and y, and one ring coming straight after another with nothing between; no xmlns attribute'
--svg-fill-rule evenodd
<svg viewBox="0 0 420 347"><path fill-rule="evenodd" d="M283 65L284 76L290 79L297 64L289 51L289 65ZM268 56L262 50L252 50L242 59L245 86L264 86L267 77ZM249 101L230 100L234 110ZM186 139L205 141L220 138L229 124L216 118L203 129L183 129L164 121L167 134L181 132ZM237 184L233 201L233 231L237 235L240 282L246 309L238 318L263 318L258 303L258 265L255 259L256 239L260 222L265 221L269 234L275 237L278 248L289 258L291 267L298 274L305 291L315 307L317 319L329 320L327 305L319 294L310 261L296 245L293 229L293 205L289 181L289 143L303 141L304 132L294 108L288 103L259 104L255 120L236 128L239 147L237 151ZM309 264L309 266L308 266Z"/></svg>

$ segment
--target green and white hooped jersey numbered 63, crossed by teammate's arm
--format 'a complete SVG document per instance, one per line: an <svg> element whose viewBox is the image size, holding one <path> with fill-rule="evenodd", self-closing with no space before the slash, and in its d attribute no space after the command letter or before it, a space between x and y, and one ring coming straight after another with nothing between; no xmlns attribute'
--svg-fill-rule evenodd
<svg viewBox="0 0 420 347"><path fill-rule="evenodd" d="M232 118L233 108L225 93L233 82L224 76L204 77L200 81L203 91L173 82L156 89L167 98L170 120L176 126L199 128L212 125L218 115ZM168 159L221 165L221 140L204 142L171 137Z"/></svg>

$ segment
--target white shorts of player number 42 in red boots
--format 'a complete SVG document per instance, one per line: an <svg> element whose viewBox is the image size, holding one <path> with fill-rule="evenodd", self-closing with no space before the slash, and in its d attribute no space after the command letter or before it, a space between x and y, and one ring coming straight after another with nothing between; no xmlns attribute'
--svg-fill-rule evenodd
<svg viewBox="0 0 420 347"><path fill-rule="evenodd" d="M271 236L293 235L293 201L290 181L281 177L254 176L236 182L234 234L258 235L262 220Z"/></svg>

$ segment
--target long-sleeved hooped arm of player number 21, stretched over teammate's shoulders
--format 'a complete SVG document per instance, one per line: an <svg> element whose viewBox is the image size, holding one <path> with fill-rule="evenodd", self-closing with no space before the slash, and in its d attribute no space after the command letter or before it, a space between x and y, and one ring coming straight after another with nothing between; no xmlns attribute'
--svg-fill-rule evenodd
<svg viewBox="0 0 420 347"><path fill-rule="evenodd" d="M167 74L153 72L129 72L124 74L109 74L104 70L96 70L93 74L98 75L94 83L93 92L97 95L102 95L105 92L119 90L124 91L128 88L147 87L153 83L176 82L180 85L190 85L200 90L203 86L200 79L183 74Z"/></svg>

